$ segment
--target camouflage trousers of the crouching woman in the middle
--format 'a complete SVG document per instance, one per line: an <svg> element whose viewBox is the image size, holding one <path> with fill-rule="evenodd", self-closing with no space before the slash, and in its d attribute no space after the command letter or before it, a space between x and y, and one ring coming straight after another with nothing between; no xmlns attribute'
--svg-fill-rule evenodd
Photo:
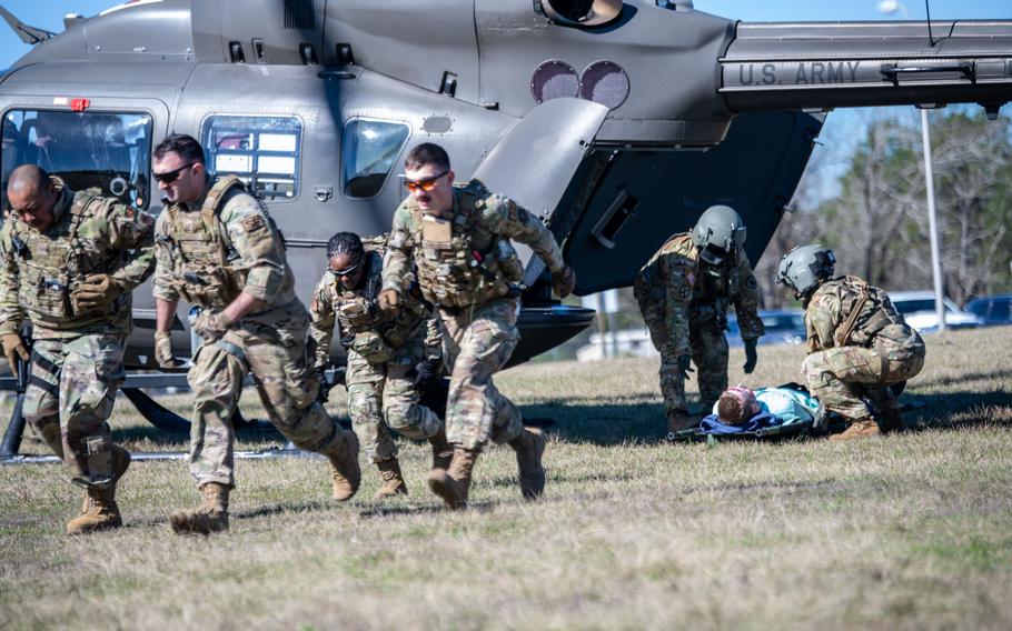
<svg viewBox="0 0 1012 631"><path fill-rule="evenodd" d="M397 455L387 428L411 440L431 438L443 429L439 417L418 402L415 389L415 365L425 355L424 332L395 348L394 358L385 362L371 363L348 349L348 414L369 462Z"/></svg>

